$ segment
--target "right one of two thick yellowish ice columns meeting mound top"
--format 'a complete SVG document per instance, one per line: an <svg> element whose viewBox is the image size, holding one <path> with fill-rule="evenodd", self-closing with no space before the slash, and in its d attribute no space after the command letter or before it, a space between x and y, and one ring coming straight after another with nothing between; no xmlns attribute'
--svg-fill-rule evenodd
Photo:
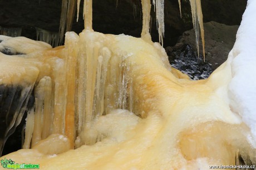
<svg viewBox="0 0 256 170"><path fill-rule="evenodd" d="M151 42L151 35L149 33L151 3L150 0L141 0L141 4L143 13L141 38L146 40L147 42Z"/></svg>

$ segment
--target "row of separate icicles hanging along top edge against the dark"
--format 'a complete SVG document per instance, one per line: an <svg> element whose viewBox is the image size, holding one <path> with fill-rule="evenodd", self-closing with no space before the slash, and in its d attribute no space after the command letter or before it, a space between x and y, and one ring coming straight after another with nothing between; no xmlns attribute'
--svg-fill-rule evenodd
<svg viewBox="0 0 256 170"><path fill-rule="evenodd" d="M62 0L62 12L61 12L61 20L60 20L60 41L62 42L63 35L65 32L71 31L73 17L75 15L75 4L77 3L77 21L79 17L79 9L80 9L80 1L81 0ZM126 0L129 1L129 0ZM180 8L180 16L181 16L181 0L179 1L179 8ZM130 1L131 2L131 1ZM116 5L118 0L116 0ZM134 4L131 2L131 4ZM143 13L143 27L142 28L142 37L145 34L149 34L148 30L150 29L150 12L151 12L151 1L150 0L141 0L142 4L142 13ZM159 42L163 45L164 43L164 0L152 0L152 4L154 5L154 11L156 13L156 27L159 33ZM203 55L204 54L204 25L203 25L203 14L201 11L201 0L190 0L191 6L191 13L193 18L193 25L195 29L196 35L196 47L198 49L199 55L199 29L201 33L201 40L203 46ZM83 19L85 20L85 28L92 29L92 14L88 7L92 7L92 0L84 1L83 4ZM134 14L136 15L136 6L134 7ZM147 37L149 37L147 35Z"/></svg>

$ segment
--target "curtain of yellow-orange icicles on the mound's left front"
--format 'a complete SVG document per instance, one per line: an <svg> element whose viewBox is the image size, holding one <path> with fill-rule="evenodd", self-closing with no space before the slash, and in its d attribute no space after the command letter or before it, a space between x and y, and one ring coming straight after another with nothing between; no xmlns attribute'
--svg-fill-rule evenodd
<svg viewBox="0 0 256 170"><path fill-rule="evenodd" d="M55 80L45 76L36 86L35 111L28 113L23 148L35 146L52 133L66 135L71 147L92 145L101 136L81 139L80 134L90 129L96 117L117 108L132 111L132 81L125 58L110 59L107 48L83 43L86 54L74 55L75 51L68 49L65 63L60 62L53 73L57 74ZM120 60L119 66L111 68L108 63L115 60Z"/></svg>

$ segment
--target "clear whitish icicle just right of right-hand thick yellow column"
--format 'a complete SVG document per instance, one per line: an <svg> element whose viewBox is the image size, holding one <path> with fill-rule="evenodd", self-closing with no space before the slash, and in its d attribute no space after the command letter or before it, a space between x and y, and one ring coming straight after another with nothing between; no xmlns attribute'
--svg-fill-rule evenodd
<svg viewBox="0 0 256 170"><path fill-rule="evenodd" d="M153 0L154 9L156 12L156 27L159 34L159 42L164 45L164 0Z"/></svg>

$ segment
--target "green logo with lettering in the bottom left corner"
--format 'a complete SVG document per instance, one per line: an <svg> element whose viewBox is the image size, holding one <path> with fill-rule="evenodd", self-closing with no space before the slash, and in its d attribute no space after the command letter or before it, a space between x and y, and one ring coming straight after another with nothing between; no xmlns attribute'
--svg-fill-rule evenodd
<svg viewBox="0 0 256 170"><path fill-rule="evenodd" d="M2 159L1 160L1 166L3 168L7 168L7 169L39 169L39 164L26 164L26 163L22 163L22 164L19 164L19 163L16 163L14 164L15 162L12 161L12 159L6 159L4 158L4 160Z"/></svg>

